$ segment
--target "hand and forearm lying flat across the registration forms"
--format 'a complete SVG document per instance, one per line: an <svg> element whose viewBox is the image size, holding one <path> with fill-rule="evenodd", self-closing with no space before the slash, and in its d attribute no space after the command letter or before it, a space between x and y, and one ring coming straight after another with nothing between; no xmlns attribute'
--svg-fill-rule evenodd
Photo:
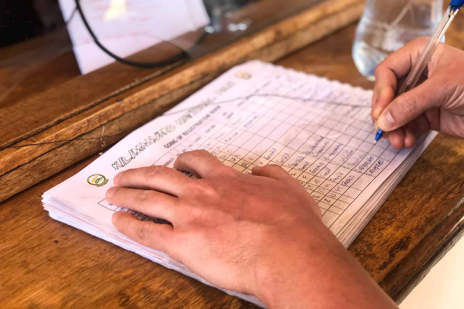
<svg viewBox="0 0 464 309"><path fill-rule="evenodd" d="M316 202L277 165L245 175L207 151L122 171L109 202L172 222L117 212L113 224L212 284L270 308L397 308L324 226Z"/></svg>

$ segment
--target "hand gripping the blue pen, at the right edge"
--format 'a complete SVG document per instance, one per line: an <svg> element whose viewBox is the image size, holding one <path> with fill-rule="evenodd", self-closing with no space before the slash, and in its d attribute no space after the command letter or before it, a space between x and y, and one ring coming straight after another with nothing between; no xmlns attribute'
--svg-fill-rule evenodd
<svg viewBox="0 0 464 309"><path fill-rule="evenodd" d="M418 38L375 69L372 119L396 148L412 147L429 130L464 138L464 52L439 44L416 88L394 99L427 43Z"/></svg>

